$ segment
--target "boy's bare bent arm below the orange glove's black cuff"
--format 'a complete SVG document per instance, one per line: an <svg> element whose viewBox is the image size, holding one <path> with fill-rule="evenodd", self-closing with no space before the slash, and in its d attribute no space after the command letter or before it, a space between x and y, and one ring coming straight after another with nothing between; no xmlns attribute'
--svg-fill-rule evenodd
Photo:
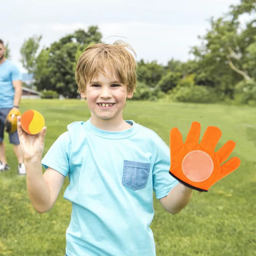
<svg viewBox="0 0 256 256"><path fill-rule="evenodd" d="M160 198L159 201L167 212L176 214L188 204L192 194L192 188L179 183L170 190L167 196Z"/></svg>

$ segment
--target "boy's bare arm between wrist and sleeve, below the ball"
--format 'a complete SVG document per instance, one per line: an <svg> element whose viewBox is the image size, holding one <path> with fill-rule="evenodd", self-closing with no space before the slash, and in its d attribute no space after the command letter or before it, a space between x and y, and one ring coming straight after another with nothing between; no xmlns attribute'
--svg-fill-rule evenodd
<svg viewBox="0 0 256 256"><path fill-rule="evenodd" d="M65 176L48 167L42 172L41 159L25 160L27 170L27 190L33 207L37 212L49 211L54 205Z"/></svg>

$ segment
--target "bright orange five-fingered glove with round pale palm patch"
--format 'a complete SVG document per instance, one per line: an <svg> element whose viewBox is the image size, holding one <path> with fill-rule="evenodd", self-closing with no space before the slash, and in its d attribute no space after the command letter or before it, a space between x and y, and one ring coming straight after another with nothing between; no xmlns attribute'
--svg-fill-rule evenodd
<svg viewBox="0 0 256 256"><path fill-rule="evenodd" d="M177 128L171 130L169 173L184 185L207 192L213 184L235 171L241 161L238 157L233 157L220 166L228 159L236 143L229 140L214 152L221 137L220 129L208 126L199 144L200 130L200 123L193 122L185 143Z"/></svg>

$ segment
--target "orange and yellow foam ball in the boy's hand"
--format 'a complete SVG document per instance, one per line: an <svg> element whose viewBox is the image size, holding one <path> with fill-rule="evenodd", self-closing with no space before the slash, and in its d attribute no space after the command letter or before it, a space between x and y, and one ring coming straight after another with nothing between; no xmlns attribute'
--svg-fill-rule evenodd
<svg viewBox="0 0 256 256"><path fill-rule="evenodd" d="M29 109L20 117L21 128L30 135L41 132L44 127L44 116L38 111Z"/></svg>

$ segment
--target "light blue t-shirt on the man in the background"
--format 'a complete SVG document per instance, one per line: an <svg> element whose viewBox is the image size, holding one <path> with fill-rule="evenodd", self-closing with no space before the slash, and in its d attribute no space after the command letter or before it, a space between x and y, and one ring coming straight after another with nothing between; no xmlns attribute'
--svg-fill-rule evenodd
<svg viewBox="0 0 256 256"><path fill-rule="evenodd" d="M0 65L0 108L12 108L14 99L12 81L21 79L19 68L11 60L5 60Z"/></svg>

